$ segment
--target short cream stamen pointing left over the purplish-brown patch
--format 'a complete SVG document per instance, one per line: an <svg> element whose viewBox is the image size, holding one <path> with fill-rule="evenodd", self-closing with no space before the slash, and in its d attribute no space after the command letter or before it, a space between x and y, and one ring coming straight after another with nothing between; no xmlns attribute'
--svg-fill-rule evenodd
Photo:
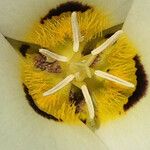
<svg viewBox="0 0 150 150"><path fill-rule="evenodd" d="M58 54L53 53L53 52L50 52L47 49L39 49L39 52L41 54L43 54L44 56L46 56L46 57L51 57L51 58L56 59L58 61L62 61L62 62L67 62L68 61L67 57L62 56L62 55L58 55Z"/></svg>

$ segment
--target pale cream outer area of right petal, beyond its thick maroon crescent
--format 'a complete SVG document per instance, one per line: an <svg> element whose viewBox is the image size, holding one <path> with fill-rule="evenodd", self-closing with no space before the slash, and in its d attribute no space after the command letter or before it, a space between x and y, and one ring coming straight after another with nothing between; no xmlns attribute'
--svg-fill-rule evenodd
<svg viewBox="0 0 150 150"><path fill-rule="evenodd" d="M135 0L123 30L140 50L142 62L150 77L150 1ZM142 90L142 89L141 89ZM101 127L99 135L111 150L150 149L150 91L127 115Z"/></svg>

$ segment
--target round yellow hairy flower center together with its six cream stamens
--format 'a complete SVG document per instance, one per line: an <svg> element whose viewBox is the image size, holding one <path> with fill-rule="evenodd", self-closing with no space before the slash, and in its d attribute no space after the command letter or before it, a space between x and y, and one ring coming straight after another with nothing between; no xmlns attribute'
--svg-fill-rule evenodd
<svg viewBox="0 0 150 150"><path fill-rule="evenodd" d="M137 50L122 30L103 37L110 27L109 16L92 7L34 25L27 40L43 48L22 58L22 81L40 110L65 123L89 125L90 120L90 126L125 114L124 105L137 86ZM87 43L94 46L83 54ZM40 67L35 65L39 54L47 61L40 60ZM41 69L47 63L61 70Z"/></svg>

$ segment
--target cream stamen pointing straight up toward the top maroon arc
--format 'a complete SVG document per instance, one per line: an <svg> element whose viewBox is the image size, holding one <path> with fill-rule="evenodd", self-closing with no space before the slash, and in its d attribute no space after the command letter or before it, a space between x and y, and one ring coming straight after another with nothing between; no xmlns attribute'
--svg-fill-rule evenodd
<svg viewBox="0 0 150 150"><path fill-rule="evenodd" d="M76 12L73 12L71 14L71 25L72 25L72 33L73 33L73 51L78 52L81 34L79 30Z"/></svg>

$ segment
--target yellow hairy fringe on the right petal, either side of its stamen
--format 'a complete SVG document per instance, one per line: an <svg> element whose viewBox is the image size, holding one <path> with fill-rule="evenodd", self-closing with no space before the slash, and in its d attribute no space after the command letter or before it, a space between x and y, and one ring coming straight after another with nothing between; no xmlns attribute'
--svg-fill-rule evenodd
<svg viewBox="0 0 150 150"><path fill-rule="evenodd" d="M136 87L136 68L133 58L137 54L125 35L121 36L114 46L105 50L100 57L100 62L95 67L121 79L133 83ZM123 106L128 102L128 97L134 88L128 88L114 82L104 80L101 88L93 91L98 109L98 116L102 123L116 119L124 114Z"/></svg>

